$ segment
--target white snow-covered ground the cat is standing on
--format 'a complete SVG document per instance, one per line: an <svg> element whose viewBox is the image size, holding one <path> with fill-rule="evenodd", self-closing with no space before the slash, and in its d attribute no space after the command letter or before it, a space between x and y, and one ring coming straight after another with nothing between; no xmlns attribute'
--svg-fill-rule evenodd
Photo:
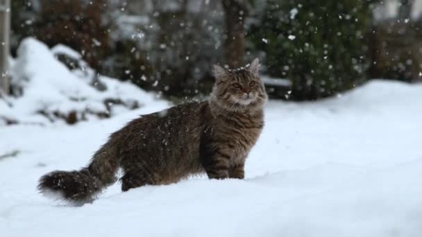
<svg viewBox="0 0 422 237"><path fill-rule="evenodd" d="M270 101L244 180L192 177L72 207L37 193L160 101L73 126L0 127L0 236L422 236L422 85L373 80L314 103Z"/></svg>

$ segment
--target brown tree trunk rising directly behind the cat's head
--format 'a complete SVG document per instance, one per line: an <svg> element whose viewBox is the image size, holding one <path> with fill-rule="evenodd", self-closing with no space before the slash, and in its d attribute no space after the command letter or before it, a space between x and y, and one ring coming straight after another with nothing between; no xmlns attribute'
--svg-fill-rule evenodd
<svg viewBox="0 0 422 237"><path fill-rule="evenodd" d="M226 15L224 55L230 68L242 67L245 55L244 19L248 15L246 3L242 0L223 0Z"/></svg>

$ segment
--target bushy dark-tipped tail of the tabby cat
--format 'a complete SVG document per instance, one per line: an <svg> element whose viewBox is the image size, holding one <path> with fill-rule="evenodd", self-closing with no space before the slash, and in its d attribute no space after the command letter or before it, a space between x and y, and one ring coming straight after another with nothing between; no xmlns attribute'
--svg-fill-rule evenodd
<svg viewBox="0 0 422 237"><path fill-rule="evenodd" d="M116 182L119 159L109 143L98 150L81 170L56 170L40 178L38 189L45 195L69 202L91 202L103 188Z"/></svg>

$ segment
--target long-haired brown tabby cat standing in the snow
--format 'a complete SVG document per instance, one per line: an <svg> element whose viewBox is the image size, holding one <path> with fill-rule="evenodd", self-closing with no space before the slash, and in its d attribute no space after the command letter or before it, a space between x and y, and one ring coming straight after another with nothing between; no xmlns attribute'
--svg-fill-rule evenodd
<svg viewBox="0 0 422 237"><path fill-rule="evenodd" d="M56 170L40 178L41 193L91 202L117 181L121 190L171 184L205 173L210 179L244 179L244 164L264 126L267 101L259 60L240 69L214 65L210 98L130 121L110 135L81 170Z"/></svg>

